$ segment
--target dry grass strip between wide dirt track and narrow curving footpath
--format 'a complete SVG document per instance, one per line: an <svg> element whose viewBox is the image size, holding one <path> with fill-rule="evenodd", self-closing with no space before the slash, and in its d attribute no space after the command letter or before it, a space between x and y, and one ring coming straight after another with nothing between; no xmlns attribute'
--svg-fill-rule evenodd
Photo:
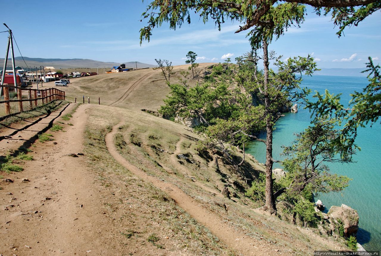
<svg viewBox="0 0 381 256"><path fill-rule="evenodd" d="M139 250L147 254L155 251L157 255L237 255L165 193L134 177L112 158L104 139L122 112L105 107L90 109L85 148L88 164L98 173L100 184L115 191L115 201L105 203L104 207L120 223L117 235L125 240L125 254ZM128 126L121 130L124 129ZM134 130L141 131L144 131L141 127ZM118 146L123 148L123 144Z"/></svg>

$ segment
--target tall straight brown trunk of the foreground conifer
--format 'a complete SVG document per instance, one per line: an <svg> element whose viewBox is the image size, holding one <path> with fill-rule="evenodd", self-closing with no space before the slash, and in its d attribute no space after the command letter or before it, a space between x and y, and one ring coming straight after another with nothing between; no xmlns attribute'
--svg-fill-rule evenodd
<svg viewBox="0 0 381 256"><path fill-rule="evenodd" d="M275 199L272 193L272 115L270 110L270 98L268 93L269 86L269 52L268 43L263 40L263 66L264 66L264 105L266 111L266 204L265 209L270 214L277 214Z"/></svg>

